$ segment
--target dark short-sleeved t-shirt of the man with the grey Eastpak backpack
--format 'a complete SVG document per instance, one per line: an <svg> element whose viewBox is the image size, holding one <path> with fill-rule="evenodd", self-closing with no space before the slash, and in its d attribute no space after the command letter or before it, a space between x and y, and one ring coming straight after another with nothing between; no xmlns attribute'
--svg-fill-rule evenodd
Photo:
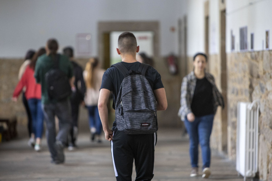
<svg viewBox="0 0 272 181"><path fill-rule="evenodd" d="M125 67L128 68L128 70L133 70L133 71L138 71L141 65L140 62L133 62L133 63L121 62L121 63L125 65ZM145 77L147 78L153 90L164 88L164 85L161 81L161 76L155 68L149 66L145 73ZM116 67L108 68L104 72L100 89L108 89L112 91L113 109L115 109L115 101L117 99L117 95L119 93L120 86L123 79L124 79L123 74ZM114 130L115 128L116 128L116 123L114 121L112 129Z"/></svg>

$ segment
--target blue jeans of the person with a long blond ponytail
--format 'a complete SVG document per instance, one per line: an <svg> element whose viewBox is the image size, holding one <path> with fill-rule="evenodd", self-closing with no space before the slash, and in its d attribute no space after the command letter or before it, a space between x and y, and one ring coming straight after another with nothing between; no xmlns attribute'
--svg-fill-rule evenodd
<svg viewBox="0 0 272 181"><path fill-rule="evenodd" d="M98 106L87 106L90 128L96 128L96 134L101 134L102 123L98 113Z"/></svg>

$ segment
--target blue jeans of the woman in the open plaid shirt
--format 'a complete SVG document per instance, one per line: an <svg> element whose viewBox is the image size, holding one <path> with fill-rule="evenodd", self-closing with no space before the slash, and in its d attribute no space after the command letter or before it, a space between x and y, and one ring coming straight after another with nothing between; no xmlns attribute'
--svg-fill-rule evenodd
<svg viewBox="0 0 272 181"><path fill-rule="evenodd" d="M185 118L184 124L190 138L190 158L192 167L198 167L198 145L201 146L203 168L210 167L211 149L210 135L214 114L196 117L195 121L189 122Z"/></svg>

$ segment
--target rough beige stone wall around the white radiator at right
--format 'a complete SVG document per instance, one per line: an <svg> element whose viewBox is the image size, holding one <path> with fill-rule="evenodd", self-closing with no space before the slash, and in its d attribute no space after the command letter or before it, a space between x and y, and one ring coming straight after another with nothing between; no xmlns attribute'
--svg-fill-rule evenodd
<svg viewBox="0 0 272 181"><path fill-rule="evenodd" d="M235 160L238 101L260 100L259 158L261 180L272 180L272 51L230 53L228 67L228 157Z"/></svg>

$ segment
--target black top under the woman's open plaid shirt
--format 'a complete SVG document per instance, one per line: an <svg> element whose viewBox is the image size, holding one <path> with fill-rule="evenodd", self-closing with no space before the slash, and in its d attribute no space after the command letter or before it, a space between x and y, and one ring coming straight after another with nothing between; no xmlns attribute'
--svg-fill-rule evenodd
<svg viewBox="0 0 272 181"><path fill-rule="evenodd" d="M196 88L191 104L195 116L214 114L212 103L212 84L207 78L197 79Z"/></svg>

